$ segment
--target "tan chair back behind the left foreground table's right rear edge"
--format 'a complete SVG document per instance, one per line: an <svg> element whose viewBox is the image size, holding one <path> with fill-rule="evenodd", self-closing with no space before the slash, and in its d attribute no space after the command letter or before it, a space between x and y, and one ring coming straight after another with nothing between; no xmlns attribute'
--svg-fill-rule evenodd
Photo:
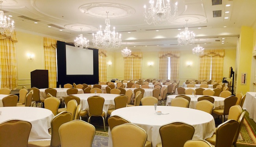
<svg viewBox="0 0 256 147"><path fill-rule="evenodd" d="M49 97L45 99L45 109L52 111L54 115L58 114L60 100L56 97Z"/></svg>

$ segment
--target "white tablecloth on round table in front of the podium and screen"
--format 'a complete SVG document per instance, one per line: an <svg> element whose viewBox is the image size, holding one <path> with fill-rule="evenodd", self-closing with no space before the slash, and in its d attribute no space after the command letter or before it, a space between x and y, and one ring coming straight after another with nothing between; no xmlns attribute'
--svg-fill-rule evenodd
<svg viewBox="0 0 256 147"><path fill-rule="evenodd" d="M40 98L46 98L45 89L46 89L46 88L44 88L44 89L39 89L39 90L40 90ZM69 89L69 88L54 88L54 89L57 90L56 97L57 97L58 99L62 99L62 102L63 102L65 96L68 95L68 94L67 94L67 89ZM80 93L83 93L83 89L78 89L78 94L80 94Z"/></svg>

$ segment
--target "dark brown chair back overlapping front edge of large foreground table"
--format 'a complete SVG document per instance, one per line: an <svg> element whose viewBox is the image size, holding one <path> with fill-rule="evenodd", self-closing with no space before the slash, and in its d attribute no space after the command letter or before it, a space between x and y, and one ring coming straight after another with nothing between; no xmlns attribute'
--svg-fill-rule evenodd
<svg viewBox="0 0 256 147"><path fill-rule="evenodd" d="M159 129L161 141L156 147L183 147L187 140L191 140L195 128L184 122L171 122Z"/></svg>

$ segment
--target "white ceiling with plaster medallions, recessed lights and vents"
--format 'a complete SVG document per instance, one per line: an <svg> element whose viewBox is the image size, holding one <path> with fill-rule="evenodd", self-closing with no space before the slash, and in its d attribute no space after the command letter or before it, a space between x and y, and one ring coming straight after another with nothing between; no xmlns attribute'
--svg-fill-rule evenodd
<svg viewBox="0 0 256 147"><path fill-rule="evenodd" d="M174 20L166 25L148 25L143 17L143 6L148 7L148 1L3 0L2 10L5 15L13 16L11 19L15 21L17 31L70 43L81 33L80 28L83 36L92 40L92 33L96 33L100 25L105 27L106 11L109 11L111 27L115 26L122 34L123 45L116 51L126 47L126 43L132 51L188 50L198 43L205 49L236 49L241 26L253 27L256 20L256 0L171 0L171 3L178 2ZM222 4L212 5L212 1ZM226 7L226 4L231 6ZM221 10L222 16L213 18L214 10ZM20 16L35 19L38 23ZM189 31L196 34L196 44L180 46L177 45L177 35L186 27L186 20L189 20ZM48 27L50 24L56 27ZM90 47L95 48L91 42Z"/></svg>

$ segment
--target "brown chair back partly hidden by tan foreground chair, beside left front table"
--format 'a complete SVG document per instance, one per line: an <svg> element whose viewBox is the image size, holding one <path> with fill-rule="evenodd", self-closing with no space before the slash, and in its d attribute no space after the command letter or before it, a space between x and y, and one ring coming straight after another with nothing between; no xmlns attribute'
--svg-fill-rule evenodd
<svg viewBox="0 0 256 147"><path fill-rule="evenodd" d="M47 100L46 98L45 100ZM67 111L63 111L58 115L54 116L51 121L51 147L59 147L61 145L60 138L59 138L59 127L71 120L71 113Z"/></svg>

